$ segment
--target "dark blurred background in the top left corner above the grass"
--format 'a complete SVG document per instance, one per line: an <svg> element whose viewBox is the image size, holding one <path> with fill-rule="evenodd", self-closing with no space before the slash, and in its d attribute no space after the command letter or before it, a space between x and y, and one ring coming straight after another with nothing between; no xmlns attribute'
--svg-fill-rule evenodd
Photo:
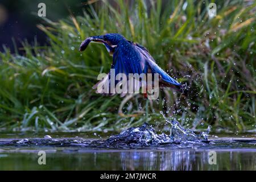
<svg viewBox="0 0 256 182"><path fill-rule="evenodd" d="M21 47L25 40L31 44L35 39L41 45L47 43L46 35L36 27L36 24L44 23L37 15L40 2L46 3L46 18L52 21L67 18L71 13L82 15L82 9L86 7L82 0L0 0L0 51L6 46L14 52L14 42Z"/></svg>

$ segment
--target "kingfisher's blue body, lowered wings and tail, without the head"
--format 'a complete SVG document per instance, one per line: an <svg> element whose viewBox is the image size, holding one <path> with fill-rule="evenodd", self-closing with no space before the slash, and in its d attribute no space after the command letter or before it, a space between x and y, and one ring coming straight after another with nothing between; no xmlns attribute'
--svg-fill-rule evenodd
<svg viewBox="0 0 256 182"><path fill-rule="evenodd" d="M115 70L115 76L117 76L118 73L125 73L125 75L128 76L129 73L138 73L141 75L141 73L146 74L151 72L158 73L160 75L160 82L164 82L166 85L181 85L155 63L155 60L146 48L130 41L119 43L118 46L114 48L111 68ZM102 84L102 82L106 81L110 83L110 73L104 80L94 85L93 88L95 89L98 84ZM118 81L115 82L115 84L117 83ZM110 84L108 86L110 86ZM140 86L141 85L139 85L139 87ZM125 94L121 94L121 96L125 96Z"/></svg>

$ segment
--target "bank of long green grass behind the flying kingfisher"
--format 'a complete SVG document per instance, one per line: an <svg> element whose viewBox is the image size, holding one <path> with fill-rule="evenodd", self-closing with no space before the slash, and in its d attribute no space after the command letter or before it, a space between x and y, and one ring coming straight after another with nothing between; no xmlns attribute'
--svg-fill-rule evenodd
<svg viewBox="0 0 256 182"><path fill-rule="evenodd" d="M49 46L24 43L24 55L0 53L0 128L56 131L122 130L143 122L164 126L160 110L183 126L255 130L255 2L125 1L87 5L84 16L38 25ZM166 89L158 101L141 95L100 96L92 90L112 57L92 35L119 32L147 47L156 62L189 85L187 97ZM121 105L121 106L120 106ZM119 113L119 114L118 114Z"/></svg>

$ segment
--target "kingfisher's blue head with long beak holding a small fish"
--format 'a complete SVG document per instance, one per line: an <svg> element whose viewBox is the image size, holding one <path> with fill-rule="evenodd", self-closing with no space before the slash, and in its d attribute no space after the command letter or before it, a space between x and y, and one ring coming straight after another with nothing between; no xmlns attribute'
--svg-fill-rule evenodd
<svg viewBox="0 0 256 182"><path fill-rule="evenodd" d="M113 47L117 46L117 44L120 42L120 40L125 39L121 34L115 34L115 33L110 33L110 34L105 34L105 35L97 35L97 36L91 36L87 39L85 39L80 46L79 51L84 51L88 44L90 42L101 42L104 44L108 44L108 46Z"/></svg>

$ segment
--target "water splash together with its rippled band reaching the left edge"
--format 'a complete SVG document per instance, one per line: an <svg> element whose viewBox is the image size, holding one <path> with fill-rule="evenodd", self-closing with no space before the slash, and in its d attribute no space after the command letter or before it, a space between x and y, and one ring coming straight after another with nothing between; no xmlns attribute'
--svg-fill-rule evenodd
<svg viewBox="0 0 256 182"><path fill-rule="evenodd" d="M155 129L144 123L140 127L130 127L123 130L120 134L113 135L108 139L88 140L88 139L55 139L49 135L44 138L7 140L1 145L13 146L80 146L80 147L104 147L104 148L123 148L123 147L144 147L144 146L169 146L177 144L177 146L188 146L189 144L197 145L209 143L208 135L210 126L207 131L195 134L191 129L184 129L175 119L168 119L162 111L164 119L170 124L170 134L157 134Z"/></svg>

